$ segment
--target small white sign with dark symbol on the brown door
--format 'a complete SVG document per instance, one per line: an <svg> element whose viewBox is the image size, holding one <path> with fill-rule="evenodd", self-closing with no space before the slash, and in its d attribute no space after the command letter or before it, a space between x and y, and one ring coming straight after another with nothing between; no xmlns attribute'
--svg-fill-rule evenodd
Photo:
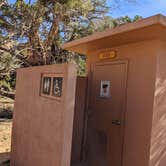
<svg viewBox="0 0 166 166"><path fill-rule="evenodd" d="M110 81L101 80L100 82L100 97L110 97Z"/></svg>

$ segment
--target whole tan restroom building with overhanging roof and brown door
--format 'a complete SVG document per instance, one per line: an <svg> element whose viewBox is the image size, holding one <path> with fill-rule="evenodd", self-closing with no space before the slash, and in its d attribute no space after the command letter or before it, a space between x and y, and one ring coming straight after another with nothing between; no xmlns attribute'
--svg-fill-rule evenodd
<svg viewBox="0 0 166 166"><path fill-rule="evenodd" d="M87 55L88 166L166 165L166 18L67 43Z"/></svg>

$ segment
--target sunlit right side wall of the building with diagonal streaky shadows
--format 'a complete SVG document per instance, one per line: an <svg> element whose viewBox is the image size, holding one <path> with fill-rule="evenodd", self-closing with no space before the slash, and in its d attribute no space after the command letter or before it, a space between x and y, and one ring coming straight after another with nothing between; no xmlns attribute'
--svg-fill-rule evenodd
<svg viewBox="0 0 166 166"><path fill-rule="evenodd" d="M157 53L150 166L166 165L166 42Z"/></svg>

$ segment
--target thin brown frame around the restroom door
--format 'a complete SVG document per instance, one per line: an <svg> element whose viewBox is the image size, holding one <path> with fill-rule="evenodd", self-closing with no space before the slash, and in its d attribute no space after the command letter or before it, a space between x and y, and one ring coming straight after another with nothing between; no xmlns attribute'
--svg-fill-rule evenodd
<svg viewBox="0 0 166 166"><path fill-rule="evenodd" d="M104 66L104 65L119 65L119 64L125 64L125 71L124 71L124 85L123 85L123 127L122 127L122 152L121 152L121 166L123 166L123 157L124 157L124 139L125 139L125 124L126 124L126 111L127 111L127 84L128 84L128 69L129 69L129 60L128 59L119 59L119 60L113 60L113 61L109 61L109 62L96 62L96 63L92 63L90 65L89 68L89 74L88 74L88 85L87 85L87 104L86 104L86 124L85 124L85 135L84 135L84 147L85 149L84 151L84 155L83 155L83 159L86 161L86 150L87 150L87 123L88 123L88 118L90 115L89 110L91 110L90 106L89 106L89 100L90 100L90 89L91 89L91 83L93 80L93 70L95 69L96 66Z"/></svg>

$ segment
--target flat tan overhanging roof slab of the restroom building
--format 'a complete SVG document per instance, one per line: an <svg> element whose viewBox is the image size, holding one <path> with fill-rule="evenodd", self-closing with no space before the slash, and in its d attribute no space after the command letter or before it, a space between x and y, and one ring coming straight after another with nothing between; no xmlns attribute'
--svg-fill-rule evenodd
<svg viewBox="0 0 166 166"><path fill-rule="evenodd" d="M63 49L84 55L123 44L166 39L166 17L158 14L66 43Z"/></svg>

